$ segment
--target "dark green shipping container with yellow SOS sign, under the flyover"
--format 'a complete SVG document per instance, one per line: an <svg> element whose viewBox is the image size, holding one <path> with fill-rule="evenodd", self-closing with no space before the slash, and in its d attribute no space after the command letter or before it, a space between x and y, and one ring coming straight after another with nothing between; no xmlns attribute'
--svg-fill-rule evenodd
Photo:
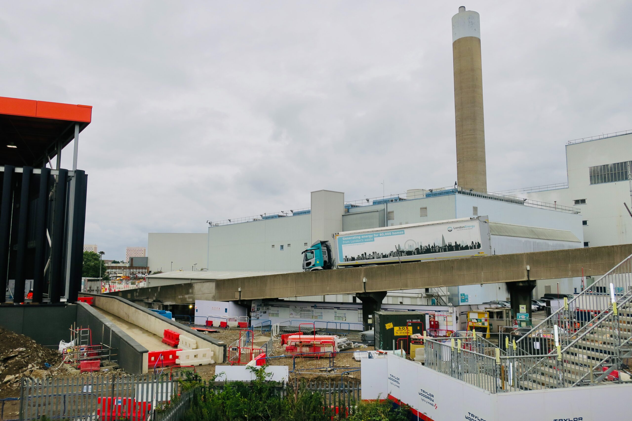
<svg viewBox="0 0 632 421"><path fill-rule="evenodd" d="M374 323L376 350L392 351L403 347L408 352L410 335L423 334L425 330L426 314L418 311L376 311ZM399 339L404 341L398 346ZM406 345L402 345L402 342Z"/></svg>

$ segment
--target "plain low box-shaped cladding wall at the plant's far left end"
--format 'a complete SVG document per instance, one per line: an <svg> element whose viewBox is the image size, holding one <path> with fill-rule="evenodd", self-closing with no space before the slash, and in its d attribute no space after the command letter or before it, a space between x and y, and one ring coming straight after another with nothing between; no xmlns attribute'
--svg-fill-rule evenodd
<svg viewBox="0 0 632 421"><path fill-rule="evenodd" d="M147 235L147 258L150 271L200 270L208 268L208 235L150 232Z"/></svg>

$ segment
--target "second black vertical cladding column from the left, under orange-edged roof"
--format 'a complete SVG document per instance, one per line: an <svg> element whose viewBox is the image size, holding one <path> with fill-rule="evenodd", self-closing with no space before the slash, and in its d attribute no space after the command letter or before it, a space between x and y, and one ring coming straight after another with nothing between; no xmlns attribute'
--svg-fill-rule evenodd
<svg viewBox="0 0 632 421"><path fill-rule="evenodd" d="M25 290L25 255L27 254L28 231L28 196L31 187L32 167L22 167L22 185L20 188L20 211L18 211L18 244L15 256L15 287L13 288L13 302L23 302Z"/></svg>

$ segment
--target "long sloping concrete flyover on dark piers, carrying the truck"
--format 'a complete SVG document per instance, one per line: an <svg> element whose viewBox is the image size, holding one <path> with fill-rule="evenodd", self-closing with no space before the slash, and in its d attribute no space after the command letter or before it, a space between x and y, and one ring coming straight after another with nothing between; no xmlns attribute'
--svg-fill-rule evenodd
<svg viewBox="0 0 632 421"><path fill-rule="evenodd" d="M136 302L164 304L190 304L195 300L234 301L358 294L363 302L373 300L379 307L380 293L386 291L507 282L509 292L513 295L516 290L522 296L522 302L526 301L526 295L530 297L535 280L581 276L581 268L591 274L605 273L631 254L632 244L621 244L249 276L138 288L111 294ZM515 283L516 288L512 288L511 283ZM530 305L527 308L530 309Z"/></svg>

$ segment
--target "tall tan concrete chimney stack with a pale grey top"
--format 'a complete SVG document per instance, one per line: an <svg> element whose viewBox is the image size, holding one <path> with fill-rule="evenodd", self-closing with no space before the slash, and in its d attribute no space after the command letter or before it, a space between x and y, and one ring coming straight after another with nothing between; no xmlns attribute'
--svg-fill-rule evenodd
<svg viewBox="0 0 632 421"><path fill-rule="evenodd" d="M460 187L487 193L480 18L464 6L452 17L452 54L456 178Z"/></svg>

